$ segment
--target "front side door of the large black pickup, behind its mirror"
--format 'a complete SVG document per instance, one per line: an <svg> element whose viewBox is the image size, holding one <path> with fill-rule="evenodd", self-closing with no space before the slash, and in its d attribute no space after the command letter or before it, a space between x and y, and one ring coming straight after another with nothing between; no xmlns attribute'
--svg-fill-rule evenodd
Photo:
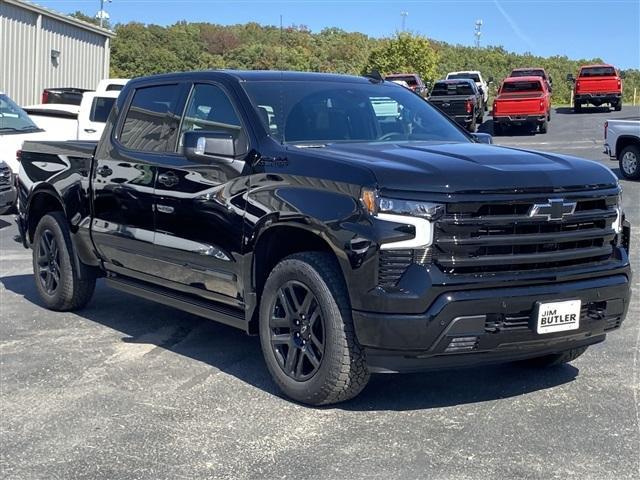
<svg viewBox="0 0 640 480"><path fill-rule="evenodd" d="M242 305L242 222L249 135L240 108L217 83L191 87L176 155L158 165L155 186L158 259L182 289L232 306ZM234 139L235 155L201 160L183 155L185 132Z"/></svg>

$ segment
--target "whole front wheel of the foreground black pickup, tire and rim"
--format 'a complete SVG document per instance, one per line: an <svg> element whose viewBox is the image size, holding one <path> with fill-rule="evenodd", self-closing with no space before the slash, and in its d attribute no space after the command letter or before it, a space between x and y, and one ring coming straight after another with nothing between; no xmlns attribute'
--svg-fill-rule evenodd
<svg viewBox="0 0 640 480"><path fill-rule="evenodd" d="M262 292L259 330L269 373L296 401L342 402L369 381L342 272L329 254L298 253L276 265Z"/></svg>

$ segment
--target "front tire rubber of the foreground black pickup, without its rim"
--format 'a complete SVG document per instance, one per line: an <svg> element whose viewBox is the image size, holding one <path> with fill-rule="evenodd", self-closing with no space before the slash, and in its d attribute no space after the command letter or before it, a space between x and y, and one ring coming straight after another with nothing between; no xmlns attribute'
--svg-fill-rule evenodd
<svg viewBox="0 0 640 480"><path fill-rule="evenodd" d="M290 281L304 284L316 297L326 332L320 366L304 381L285 373L270 341L273 299L280 287ZM355 335L347 287L337 261L327 253L297 253L275 266L260 300L259 333L269 373L293 400L309 405L343 402L358 395L369 381L365 354Z"/></svg>

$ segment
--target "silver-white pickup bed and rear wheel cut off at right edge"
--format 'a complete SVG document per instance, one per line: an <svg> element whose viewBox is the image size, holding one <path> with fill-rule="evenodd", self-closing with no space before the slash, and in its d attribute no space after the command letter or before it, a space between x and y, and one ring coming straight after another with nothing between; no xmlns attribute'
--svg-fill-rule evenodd
<svg viewBox="0 0 640 480"><path fill-rule="evenodd" d="M625 178L640 179L640 117L604 122L604 153L618 160Z"/></svg>

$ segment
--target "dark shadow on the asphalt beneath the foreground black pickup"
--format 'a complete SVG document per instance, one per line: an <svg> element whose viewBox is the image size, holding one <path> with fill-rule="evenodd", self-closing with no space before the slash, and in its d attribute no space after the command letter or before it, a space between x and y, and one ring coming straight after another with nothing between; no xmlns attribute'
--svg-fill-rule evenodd
<svg viewBox="0 0 640 480"><path fill-rule="evenodd" d="M41 306L32 275L0 278L4 287ZM284 398L269 376L256 337L213 321L109 289L99 283L90 304L76 314L125 335L124 343L151 343L206 363ZM157 332L169 330L168 336ZM327 408L353 411L422 410L516 397L573 381L578 369L539 370L515 364L406 375L374 375L359 397Z"/></svg>

